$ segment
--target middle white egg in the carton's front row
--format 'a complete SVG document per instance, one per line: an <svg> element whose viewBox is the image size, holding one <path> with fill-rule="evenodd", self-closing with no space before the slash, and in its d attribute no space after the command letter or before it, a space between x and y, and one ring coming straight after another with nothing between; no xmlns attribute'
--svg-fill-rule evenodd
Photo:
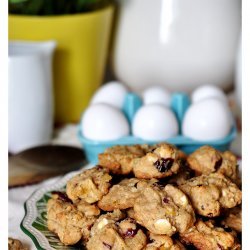
<svg viewBox="0 0 250 250"><path fill-rule="evenodd" d="M158 104L146 105L136 112L132 133L144 140L166 140L178 134L178 122L169 108Z"/></svg>

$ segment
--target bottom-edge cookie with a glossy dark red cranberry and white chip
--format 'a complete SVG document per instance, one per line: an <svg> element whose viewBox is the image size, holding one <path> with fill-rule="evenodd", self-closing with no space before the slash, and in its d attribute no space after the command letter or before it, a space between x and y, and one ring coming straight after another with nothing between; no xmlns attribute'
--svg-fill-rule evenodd
<svg viewBox="0 0 250 250"><path fill-rule="evenodd" d="M88 250L116 249L141 250L146 245L146 235L131 218L125 218L119 210L103 215L91 229Z"/></svg>

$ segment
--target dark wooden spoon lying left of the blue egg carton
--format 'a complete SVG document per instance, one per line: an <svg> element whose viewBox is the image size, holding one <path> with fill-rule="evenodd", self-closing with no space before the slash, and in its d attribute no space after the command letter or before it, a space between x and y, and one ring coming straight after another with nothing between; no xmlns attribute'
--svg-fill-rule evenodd
<svg viewBox="0 0 250 250"><path fill-rule="evenodd" d="M87 163L81 148L44 145L9 157L9 187L34 184L74 171Z"/></svg>

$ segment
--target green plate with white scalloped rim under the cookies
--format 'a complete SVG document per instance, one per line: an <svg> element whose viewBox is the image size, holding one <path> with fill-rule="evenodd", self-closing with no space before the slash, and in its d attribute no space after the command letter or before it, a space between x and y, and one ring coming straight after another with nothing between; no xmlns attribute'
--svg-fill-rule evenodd
<svg viewBox="0 0 250 250"><path fill-rule="evenodd" d="M92 168L93 165L89 164L84 169ZM39 250L78 250L83 249L82 246L65 246L59 238L48 230L47 227L47 212L46 206L52 191L64 191L67 181L74 175L82 172L70 172L62 177L58 182L51 186L43 187L35 191L30 198L25 202L24 209L25 215L21 222L21 229L27 234L35 246Z"/></svg>

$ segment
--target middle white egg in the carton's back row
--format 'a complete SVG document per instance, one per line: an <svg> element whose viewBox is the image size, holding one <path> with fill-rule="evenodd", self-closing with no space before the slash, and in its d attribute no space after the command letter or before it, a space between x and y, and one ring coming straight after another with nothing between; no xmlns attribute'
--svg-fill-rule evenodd
<svg viewBox="0 0 250 250"><path fill-rule="evenodd" d="M170 107L171 103L171 94L170 92L163 87L153 86L147 88L142 93L144 105L148 104L162 104L166 107Z"/></svg>

